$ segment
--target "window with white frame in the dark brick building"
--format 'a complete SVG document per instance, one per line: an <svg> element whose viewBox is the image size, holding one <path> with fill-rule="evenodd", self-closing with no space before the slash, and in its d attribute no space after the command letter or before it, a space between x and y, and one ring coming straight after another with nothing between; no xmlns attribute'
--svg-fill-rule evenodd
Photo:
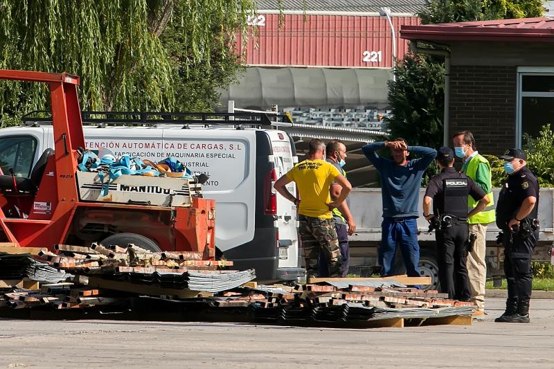
<svg viewBox="0 0 554 369"><path fill-rule="evenodd" d="M536 137L543 125L554 124L554 67L517 69L517 147L526 135Z"/></svg>

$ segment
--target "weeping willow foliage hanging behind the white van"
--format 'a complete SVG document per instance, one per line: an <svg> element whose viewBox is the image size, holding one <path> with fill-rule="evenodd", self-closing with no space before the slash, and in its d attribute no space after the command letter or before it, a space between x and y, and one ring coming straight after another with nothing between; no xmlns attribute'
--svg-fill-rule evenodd
<svg viewBox="0 0 554 369"><path fill-rule="evenodd" d="M235 34L246 37L253 7L252 0L0 0L0 68L80 75L82 109L206 108L217 82L238 71ZM47 108L46 97L41 84L0 82L0 123Z"/></svg>

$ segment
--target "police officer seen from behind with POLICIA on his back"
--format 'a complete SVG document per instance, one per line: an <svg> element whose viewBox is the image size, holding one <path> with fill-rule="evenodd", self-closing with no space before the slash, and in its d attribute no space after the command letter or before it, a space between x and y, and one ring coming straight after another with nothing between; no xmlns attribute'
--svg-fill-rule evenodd
<svg viewBox="0 0 554 369"><path fill-rule="evenodd" d="M469 251L469 226L467 218L490 202L485 192L465 174L454 168L454 152L449 147L440 147L436 156L440 174L431 178L423 198L423 216L435 228L438 256L438 279L440 291L449 298L467 301L470 299L467 277L467 252ZM468 214L467 197L479 201ZM433 214L431 210L433 200Z"/></svg>

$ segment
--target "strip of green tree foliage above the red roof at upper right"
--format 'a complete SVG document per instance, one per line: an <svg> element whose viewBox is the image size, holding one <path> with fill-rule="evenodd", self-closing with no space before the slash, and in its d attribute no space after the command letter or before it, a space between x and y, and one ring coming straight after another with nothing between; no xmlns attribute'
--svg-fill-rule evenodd
<svg viewBox="0 0 554 369"><path fill-rule="evenodd" d="M431 0L418 13L422 24L542 17L542 0Z"/></svg>

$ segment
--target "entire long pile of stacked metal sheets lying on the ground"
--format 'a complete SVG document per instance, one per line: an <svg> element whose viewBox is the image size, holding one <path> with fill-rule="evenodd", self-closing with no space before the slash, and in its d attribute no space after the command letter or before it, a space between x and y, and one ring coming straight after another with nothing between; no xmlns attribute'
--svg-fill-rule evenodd
<svg viewBox="0 0 554 369"><path fill-rule="evenodd" d="M55 253L39 251L43 261L30 255L0 255L0 278L26 277L43 283L40 287L35 284L40 288L35 291L4 289L0 307L30 308L30 312L37 307L41 311L71 309L82 314L91 312L91 307L97 307L96 312L101 314L112 308L128 314L147 312L142 318L160 314L167 307L163 314L176 314L172 316L177 320L344 323L353 327L376 321L400 320L403 325L404 320L470 318L474 308L472 303L450 300L435 290L409 288L381 278L322 280L294 287L258 286L249 282L256 278L253 270L224 270L233 263L202 260L202 256L193 252L154 253L133 244L111 248L60 244ZM68 277L65 282L44 284Z"/></svg>

